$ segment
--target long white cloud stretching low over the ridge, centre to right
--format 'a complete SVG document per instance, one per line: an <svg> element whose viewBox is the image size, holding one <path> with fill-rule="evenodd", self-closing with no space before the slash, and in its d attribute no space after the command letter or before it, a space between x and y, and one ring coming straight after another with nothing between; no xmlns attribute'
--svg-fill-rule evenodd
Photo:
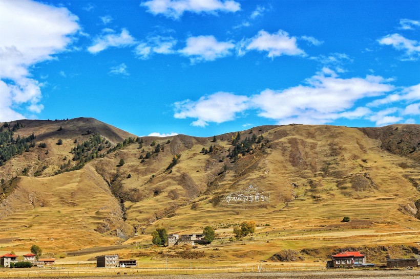
<svg viewBox="0 0 420 279"><path fill-rule="evenodd" d="M275 120L278 124L325 124L341 118L368 118L381 125L392 120L392 112L378 114L367 107L355 107L360 100L379 97L394 90L386 79L380 76L344 79L327 70L324 68L323 72L307 79L305 84L282 90L265 89L250 97L217 92L197 101L177 102L174 104L174 117L195 119L191 125L200 127L231 121L249 111L256 111L259 117ZM381 120L381 115L387 117L386 120ZM394 117L394 120L400 119Z"/></svg>

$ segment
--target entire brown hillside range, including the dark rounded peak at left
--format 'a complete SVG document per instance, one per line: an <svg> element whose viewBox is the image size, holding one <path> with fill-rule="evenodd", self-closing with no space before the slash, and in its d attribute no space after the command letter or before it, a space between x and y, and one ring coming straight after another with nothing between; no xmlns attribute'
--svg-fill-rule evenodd
<svg viewBox="0 0 420 279"><path fill-rule="evenodd" d="M0 167L3 188L12 189L0 203L0 240L15 237L6 244L15 250L33 243L54 253L148 244L158 226L192 233L205 225L218 228L218 240L203 249L226 261L267 260L283 249L309 249L308 257L317 258L317 249L326 255L343 246L418 246L419 125L261 126L213 142L136 138L92 119L21 122L16 134L33 132L35 147ZM81 135L87 130L111 147L80 170L54 175L72 156L74 139L92 136ZM136 141L114 150L124 136ZM47 155L39 142L47 143ZM48 167L39 177L22 172L41 165ZM257 192L259 202L226 201ZM349 223L341 222L345 216ZM233 225L247 220L259 225L252 241L228 242Z"/></svg>

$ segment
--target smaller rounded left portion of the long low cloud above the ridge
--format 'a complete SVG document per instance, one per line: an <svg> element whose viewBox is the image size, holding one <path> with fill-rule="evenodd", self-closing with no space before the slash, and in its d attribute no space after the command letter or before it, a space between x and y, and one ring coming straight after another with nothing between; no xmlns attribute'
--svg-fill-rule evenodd
<svg viewBox="0 0 420 279"><path fill-rule="evenodd" d="M195 118L191 125L205 127L209 122L222 123L236 118L236 114L248 108L248 97L229 92L217 92L201 97L198 101L177 102L174 117Z"/></svg>

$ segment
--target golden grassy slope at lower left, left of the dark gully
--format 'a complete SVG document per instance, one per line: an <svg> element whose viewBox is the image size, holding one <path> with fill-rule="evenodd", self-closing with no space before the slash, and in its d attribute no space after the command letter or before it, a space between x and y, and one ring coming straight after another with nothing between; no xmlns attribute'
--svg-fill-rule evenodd
<svg viewBox="0 0 420 279"><path fill-rule="evenodd" d="M110 245L131 233L122 217L107 183L90 166L53 177L23 176L0 205L0 238L56 251ZM105 228L109 233L102 236Z"/></svg>

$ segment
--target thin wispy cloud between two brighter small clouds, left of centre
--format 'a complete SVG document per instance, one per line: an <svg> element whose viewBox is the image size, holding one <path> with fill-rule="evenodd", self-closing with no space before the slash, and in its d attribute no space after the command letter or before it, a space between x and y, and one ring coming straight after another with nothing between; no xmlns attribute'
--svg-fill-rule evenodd
<svg viewBox="0 0 420 279"><path fill-rule="evenodd" d="M148 37L146 42L141 42L135 49L135 54L141 59L148 59L153 53L157 54L173 54L173 48L177 44L177 40L173 37L153 36Z"/></svg>

